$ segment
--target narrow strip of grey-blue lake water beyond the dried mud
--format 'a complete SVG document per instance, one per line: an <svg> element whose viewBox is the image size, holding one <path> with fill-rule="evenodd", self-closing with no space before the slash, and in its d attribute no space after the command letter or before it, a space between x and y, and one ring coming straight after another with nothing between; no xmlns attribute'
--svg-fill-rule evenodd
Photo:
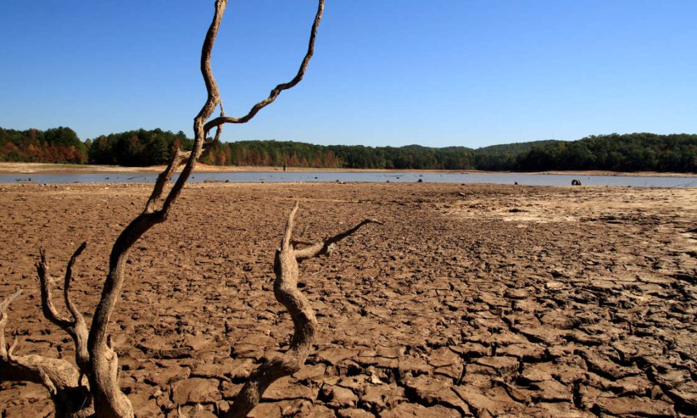
<svg viewBox="0 0 697 418"><path fill-rule="evenodd" d="M0 183L155 183L157 174L0 174ZM270 172L270 173L194 173L191 183L493 183L528 186L567 186L572 180L589 186L697 187L694 177L660 176L579 176L572 174L522 173L350 173L350 172ZM176 180L176 176L175 176Z"/></svg>

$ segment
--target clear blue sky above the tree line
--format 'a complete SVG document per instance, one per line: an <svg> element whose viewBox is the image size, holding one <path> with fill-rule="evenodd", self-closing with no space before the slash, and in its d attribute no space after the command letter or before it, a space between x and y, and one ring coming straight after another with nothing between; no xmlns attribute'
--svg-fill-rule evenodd
<svg viewBox="0 0 697 418"><path fill-rule="evenodd" d="M183 130L213 0L0 2L0 126ZM295 74L316 4L234 1L228 115ZM305 79L223 139L470 146L697 133L697 1L327 0Z"/></svg>

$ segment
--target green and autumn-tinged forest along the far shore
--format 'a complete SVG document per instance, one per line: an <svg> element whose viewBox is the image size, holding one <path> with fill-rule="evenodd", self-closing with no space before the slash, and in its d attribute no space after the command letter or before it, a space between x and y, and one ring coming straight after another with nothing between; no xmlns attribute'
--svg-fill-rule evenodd
<svg viewBox="0 0 697 418"><path fill-rule="evenodd" d="M0 161L166 164L176 147L190 149L184 132L131 130L80 141L69 127L45 131L0 127ZM314 145L296 141L215 141L201 155L212 165L345 169L446 169L487 171L697 172L697 134L608 134L577 141L533 141L466 148L418 145L372 147Z"/></svg>

